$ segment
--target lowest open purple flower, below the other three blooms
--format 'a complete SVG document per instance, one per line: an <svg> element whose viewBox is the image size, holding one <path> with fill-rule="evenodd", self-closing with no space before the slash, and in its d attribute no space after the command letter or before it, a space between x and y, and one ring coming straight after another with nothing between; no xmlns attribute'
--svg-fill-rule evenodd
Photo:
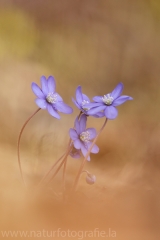
<svg viewBox="0 0 160 240"><path fill-rule="evenodd" d="M82 151L83 156L85 157L92 142L91 140L96 137L96 130L94 128L86 129L87 116L82 114L80 119L76 118L75 120L75 129L71 128L69 130L70 138L73 140L73 145L76 149ZM99 148L94 144L91 153L98 153ZM87 158L90 161L90 156Z"/></svg>

